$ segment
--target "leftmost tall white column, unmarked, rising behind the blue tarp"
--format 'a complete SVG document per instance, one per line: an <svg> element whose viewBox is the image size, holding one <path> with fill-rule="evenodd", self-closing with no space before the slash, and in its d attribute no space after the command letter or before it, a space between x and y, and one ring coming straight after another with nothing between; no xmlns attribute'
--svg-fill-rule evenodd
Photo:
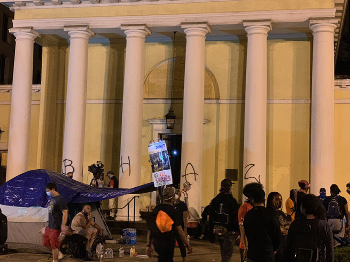
<svg viewBox="0 0 350 262"><path fill-rule="evenodd" d="M9 120L6 181L28 171L31 87L34 39L31 27L9 29L16 37L11 113Z"/></svg>

